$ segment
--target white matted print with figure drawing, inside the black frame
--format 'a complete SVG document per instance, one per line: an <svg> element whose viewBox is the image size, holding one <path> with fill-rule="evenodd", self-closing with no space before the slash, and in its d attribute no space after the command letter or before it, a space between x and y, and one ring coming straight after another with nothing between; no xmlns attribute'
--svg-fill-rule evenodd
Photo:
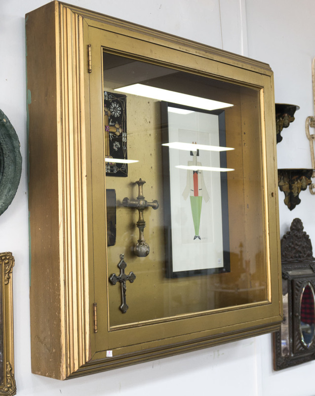
<svg viewBox="0 0 315 396"><path fill-rule="evenodd" d="M167 117L168 143L220 146L218 114L204 111L178 114L173 112L169 105ZM224 253L221 173L202 169L222 167L220 152L204 149L167 149L171 276L226 271L229 265L225 263ZM198 169L178 167L192 165L196 165Z"/></svg>

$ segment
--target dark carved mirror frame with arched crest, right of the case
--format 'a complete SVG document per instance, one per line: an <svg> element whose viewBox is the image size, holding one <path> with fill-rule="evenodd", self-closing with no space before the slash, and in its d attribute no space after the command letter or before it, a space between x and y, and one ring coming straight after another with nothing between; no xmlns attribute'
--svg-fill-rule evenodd
<svg viewBox="0 0 315 396"><path fill-rule="evenodd" d="M281 370L315 359L315 333L307 344L302 336L304 290L315 290L315 258L310 237L299 218L281 239L283 322L274 333L274 369ZM314 319L313 297L313 319ZM313 325L314 329L314 325Z"/></svg>

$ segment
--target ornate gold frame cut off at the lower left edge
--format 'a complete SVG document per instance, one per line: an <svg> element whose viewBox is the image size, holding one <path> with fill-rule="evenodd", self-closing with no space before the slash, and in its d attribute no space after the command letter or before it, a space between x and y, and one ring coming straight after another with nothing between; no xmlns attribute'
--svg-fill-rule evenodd
<svg viewBox="0 0 315 396"><path fill-rule="evenodd" d="M0 253L0 395L15 395L11 252Z"/></svg>

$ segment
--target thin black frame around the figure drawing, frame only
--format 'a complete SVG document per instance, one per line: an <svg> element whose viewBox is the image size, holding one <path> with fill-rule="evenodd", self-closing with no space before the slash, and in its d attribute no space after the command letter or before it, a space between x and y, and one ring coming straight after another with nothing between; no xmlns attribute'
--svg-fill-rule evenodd
<svg viewBox="0 0 315 396"><path fill-rule="evenodd" d="M170 163L169 148L163 146L169 142L168 130L168 108L176 107L179 109L197 111L200 113L208 113L218 116L219 125L219 145L226 146L226 129L225 129L225 110L203 110L196 107L180 105L176 103L161 101L161 123L162 123L162 158L163 158L163 180L164 180L164 221L165 221L165 261L166 261L166 277L181 278L199 275L211 275L218 273L230 272L230 237L229 237L229 203L228 203L228 181L227 172L220 172L221 185L221 208L222 208L222 241L223 241L223 266L192 269L177 271L173 268L172 259L172 224L171 224L171 194L170 194ZM220 152L220 167L227 167L227 153Z"/></svg>

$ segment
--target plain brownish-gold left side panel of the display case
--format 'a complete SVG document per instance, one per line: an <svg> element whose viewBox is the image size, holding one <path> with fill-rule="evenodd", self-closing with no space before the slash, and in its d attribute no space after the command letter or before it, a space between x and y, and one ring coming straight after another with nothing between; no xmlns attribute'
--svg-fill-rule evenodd
<svg viewBox="0 0 315 396"><path fill-rule="evenodd" d="M63 379L55 1L26 15L32 372ZM45 21L43 23L42 21ZM59 109L58 109L59 108Z"/></svg>

